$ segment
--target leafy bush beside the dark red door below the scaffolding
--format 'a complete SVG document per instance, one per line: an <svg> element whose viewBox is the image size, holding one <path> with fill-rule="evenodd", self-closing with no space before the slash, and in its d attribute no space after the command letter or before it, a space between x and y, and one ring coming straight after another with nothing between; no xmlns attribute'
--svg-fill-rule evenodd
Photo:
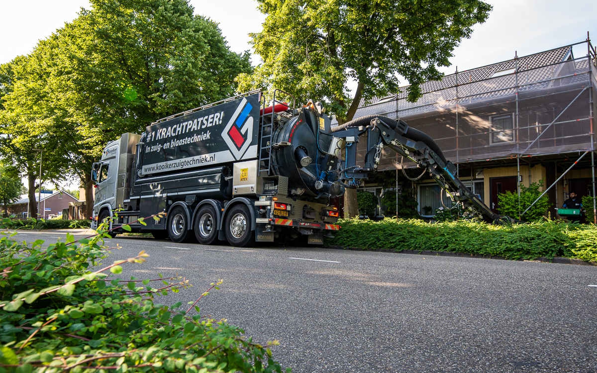
<svg viewBox="0 0 597 373"><path fill-rule="evenodd" d="M519 215L519 212L522 214L541 195L541 189L543 189L543 181L531 183L528 187L521 184L520 209L518 192L512 193L507 191L506 193L498 194L497 200L500 206L500 214L523 221L538 221L543 219L543 217L547 216L547 210L552 206L549 203L547 195L541 197L522 217Z"/></svg>

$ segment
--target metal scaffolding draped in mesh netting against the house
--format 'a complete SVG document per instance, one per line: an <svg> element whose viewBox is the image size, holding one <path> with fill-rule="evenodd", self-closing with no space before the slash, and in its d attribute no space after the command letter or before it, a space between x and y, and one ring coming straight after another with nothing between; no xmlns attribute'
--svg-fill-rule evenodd
<svg viewBox="0 0 597 373"><path fill-rule="evenodd" d="M577 164L590 154L594 197L596 55L587 33L586 40L575 44L530 56L515 54L512 60L456 70L441 81L425 82L416 103L407 101L403 89L361 107L356 116L401 118L433 137L457 165L515 161L518 180L521 159L568 155L578 157ZM382 159L378 169L396 168L391 155ZM597 214L593 216L597 219Z"/></svg>

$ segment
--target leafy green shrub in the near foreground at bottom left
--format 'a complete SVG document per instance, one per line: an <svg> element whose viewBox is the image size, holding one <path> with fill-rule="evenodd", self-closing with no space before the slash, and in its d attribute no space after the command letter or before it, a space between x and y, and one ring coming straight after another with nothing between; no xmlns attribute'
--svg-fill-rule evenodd
<svg viewBox="0 0 597 373"><path fill-rule="evenodd" d="M100 239L67 235L45 249L0 238L0 372L282 371L242 329L189 316L196 301L186 310L153 302L187 280L107 278L144 252L92 272L107 256Z"/></svg>

